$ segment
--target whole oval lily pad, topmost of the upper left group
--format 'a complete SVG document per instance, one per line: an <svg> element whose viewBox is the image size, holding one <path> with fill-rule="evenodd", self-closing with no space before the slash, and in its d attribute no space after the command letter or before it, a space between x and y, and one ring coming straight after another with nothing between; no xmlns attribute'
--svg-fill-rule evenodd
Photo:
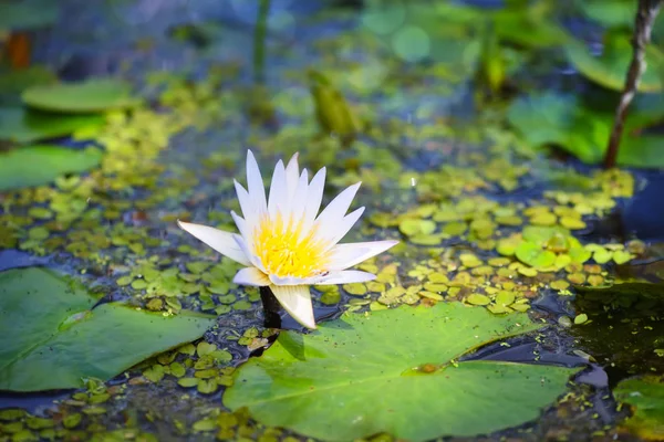
<svg viewBox="0 0 664 442"><path fill-rule="evenodd" d="M30 107L63 113L104 112L138 103L129 84L116 78L33 86L23 92L22 98Z"/></svg>

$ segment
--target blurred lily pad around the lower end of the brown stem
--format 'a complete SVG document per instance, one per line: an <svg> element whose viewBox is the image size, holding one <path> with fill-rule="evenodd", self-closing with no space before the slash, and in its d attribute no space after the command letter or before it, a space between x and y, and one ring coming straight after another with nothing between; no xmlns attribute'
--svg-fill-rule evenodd
<svg viewBox="0 0 664 442"><path fill-rule="evenodd" d="M657 106L657 110L642 110L640 103L645 101L635 101L625 124L618 164L664 167L664 156L661 155L664 137L633 134L661 120L663 108ZM596 164L604 157L614 116L613 110L587 107L577 97L544 93L516 99L507 118L533 147L558 146L583 162Z"/></svg>

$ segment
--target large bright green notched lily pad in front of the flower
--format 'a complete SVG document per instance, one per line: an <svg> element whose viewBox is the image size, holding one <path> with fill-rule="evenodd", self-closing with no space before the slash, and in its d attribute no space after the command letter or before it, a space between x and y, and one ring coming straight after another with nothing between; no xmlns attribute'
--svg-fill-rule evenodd
<svg viewBox="0 0 664 442"><path fill-rule="evenodd" d="M460 303L347 315L310 335L282 332L236 371L224 403L323 440L490 433L536 419L575 370L456 359L540 327Z"/></svg>

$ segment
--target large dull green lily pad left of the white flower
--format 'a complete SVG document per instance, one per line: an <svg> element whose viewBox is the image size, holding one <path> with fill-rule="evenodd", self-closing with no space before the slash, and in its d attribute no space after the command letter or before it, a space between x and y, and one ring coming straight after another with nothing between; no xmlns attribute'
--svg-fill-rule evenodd
<svg viewBox="0 0 664 442"><path fill-rule="evenodd" d="M215 319L137 311L96 299L41 269L0 273L0 390L79 388L200 337ZM92 309L91 309L92 308Z"/></svg>

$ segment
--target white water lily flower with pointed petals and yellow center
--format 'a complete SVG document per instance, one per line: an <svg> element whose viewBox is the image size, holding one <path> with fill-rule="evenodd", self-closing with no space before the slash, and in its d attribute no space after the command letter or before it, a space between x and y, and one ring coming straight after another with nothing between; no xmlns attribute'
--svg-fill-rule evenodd
<svg viewBox="0 0 664 442"><path fill-rule="evenodd" d="M247 154L247 189L235 181L243 218L231 211L240 234L207 225L178 224L225 256L246 265L234 282L269 286L295 320L315 328L311 294L313 284L363 283L374 274L347 270L395 245L398 241L338 244L360 219L364 208L346 214L360 182L341 192L320 213L325 168L309 181L300 173L298 154L288 166L277 164L266 198L256 158ZM317 217L318 214L318 217Z"/></svg>

